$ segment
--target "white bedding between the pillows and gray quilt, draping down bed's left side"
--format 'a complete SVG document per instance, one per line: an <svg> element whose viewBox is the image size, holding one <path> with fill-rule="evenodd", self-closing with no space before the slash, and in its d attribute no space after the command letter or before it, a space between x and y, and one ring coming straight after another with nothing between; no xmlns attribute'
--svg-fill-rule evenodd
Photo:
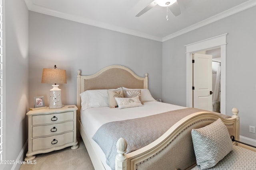
<svg viewBox="0 0 256 170"><path fill-rule="evenodd" d="M92 136L94 133L96 133L101 125L111 121L135 119L184 108L186 107L152 101L144 102L144 105L140 107L131 107L125 109L110 107L88 108L84 111L81 109L80 119L86 134L88 135L89 139L91 139L91 143L94 149L97 153L99 153L99 157L104 164L104 167L108 170L110 168L106 165L106 158L104 153L96 144L96 142L92 140Z"/></svg>

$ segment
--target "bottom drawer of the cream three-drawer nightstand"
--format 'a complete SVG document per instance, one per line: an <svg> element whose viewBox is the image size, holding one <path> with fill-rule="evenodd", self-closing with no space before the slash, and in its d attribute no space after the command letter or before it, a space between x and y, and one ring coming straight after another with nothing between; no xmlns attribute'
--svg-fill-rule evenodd
<svg viewBox="0 0 256 170"><path fill-rule="evenodd" d="M50 137L40 137L32 139L32 151L41 149L50 149L74 142L74 132L68 132L61 135Z"/></svg>

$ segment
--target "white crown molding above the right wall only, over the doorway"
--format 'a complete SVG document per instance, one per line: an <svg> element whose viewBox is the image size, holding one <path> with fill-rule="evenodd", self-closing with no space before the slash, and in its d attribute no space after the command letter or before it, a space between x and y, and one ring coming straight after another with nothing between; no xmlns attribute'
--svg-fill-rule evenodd
<svg viewBox="0 0 256 170"><path fill-rule="evenodd" d="M172 39L172 38L174 38L174 37L178 37L179 35L182 35L182 34L184 34L184 33L188 33L188 32L190 32L190 31L193 31L193 30L195 30L195 29L198 29L198 28L200 28L200 27L203 27L203 26L208 25L208 24L210 24L210 23L213 23L213 22L215 22L215 21L221 20L221 19L223 19L223 18L226 18L226 17L228 17L228 16L231 16L231 15L233 15L233 14L236 14L236 13L238 13L238 12L241 12L241 11L243 11L243 10L246 10L246 9L248 9L248 8L251 8L251 7L255 6L255 5L256 5L256 1L255 1L255 0L249 0L249 1L244 2L244 3L242 3L242 4L238 5L238 6L235 6L235 7L233 7L233 8L230 8L229 10L226 10L226 11L224 11L224 12L221 12L221 13L219 13L219 14L216 14L215 16L212 16L212 17L207 18L207 19L205 19L205 20L202 20L202 21L200 21L200 22L198 22L198 23L195 23L195 24L193 24L193 25L191 25L191 26L189 26L189 27L186 27L186 28L184 28L184 29L181 29L181 30L179 30L179 31L177 31L177 32L175 32L175 33L172 33L172 34L170 34L170 35L167 35L166 37L163 37L163 38L162 38L162 42L167 41L167 40L169 40L169 39Z"/></svg>

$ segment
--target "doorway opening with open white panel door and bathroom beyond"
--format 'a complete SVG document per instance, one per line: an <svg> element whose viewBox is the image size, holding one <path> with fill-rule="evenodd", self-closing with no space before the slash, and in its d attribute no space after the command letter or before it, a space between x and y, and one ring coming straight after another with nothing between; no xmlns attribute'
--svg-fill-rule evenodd
<svg viewBox="0 0 256 170"><path fill-rule="evenodd" d="M198 57L204 62L198 62ZM199 58L199 59L200 59ZM202 65L202 66L200 66ZM198 74L198 70L200 70ZM201 79L201 80L200 80ZM220 47L194 53L193 107L220 113L221 108Z"/></svg>

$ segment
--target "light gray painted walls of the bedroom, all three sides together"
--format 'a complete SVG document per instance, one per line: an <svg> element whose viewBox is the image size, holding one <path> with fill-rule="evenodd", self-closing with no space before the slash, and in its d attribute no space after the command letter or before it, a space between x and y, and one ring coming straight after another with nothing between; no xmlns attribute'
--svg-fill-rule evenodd
<svg viewBox="0 0 256 170"><path fill-rule="evenodd" d="M6 0L6 160L16 160L27 140L26 112L33 107L33 97L45 96L48 106L52 86L41 83L42 68L56 64L67 70L67 84L60 85L63 104L76 104L78 69L89 75L120 64L139 76L147 72L154 98L186 106L184 45L223 33L228 33L226 112L231 115L232 107L238 107L241 135L256 139L248 132L249 125L256 126L255 15L253 7L160 43L28 12L24 0ZM11 165L5 169L11 169Z"/></svg>

